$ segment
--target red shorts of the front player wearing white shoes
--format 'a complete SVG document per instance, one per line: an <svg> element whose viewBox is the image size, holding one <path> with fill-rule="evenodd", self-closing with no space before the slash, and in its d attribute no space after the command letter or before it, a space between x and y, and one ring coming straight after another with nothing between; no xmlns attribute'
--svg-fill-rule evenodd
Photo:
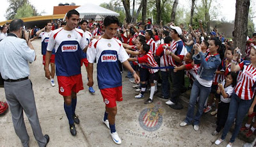
<svg viewBox="0 0 256 147"><path fill-rule="evenodd" d="M116 88L100 89L100 93L103 97L103 102L107 107L116 107L116 101L122 101L122 86Z"/></svg>

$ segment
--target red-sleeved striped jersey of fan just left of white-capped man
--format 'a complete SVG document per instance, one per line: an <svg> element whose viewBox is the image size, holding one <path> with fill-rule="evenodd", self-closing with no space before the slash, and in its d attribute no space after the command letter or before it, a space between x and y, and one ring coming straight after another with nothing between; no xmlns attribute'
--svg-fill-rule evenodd
<svg viewBox="0 0 256 147"><path fill-rule="evenodd" d="M159 47L156 50L156 56L160 57L160 66L169 66L169 56L164 54L164 48L163 45L170 46L170 44L164 43L159 45ZM160 69L163 72L168 72L168 68Z"/></svg>

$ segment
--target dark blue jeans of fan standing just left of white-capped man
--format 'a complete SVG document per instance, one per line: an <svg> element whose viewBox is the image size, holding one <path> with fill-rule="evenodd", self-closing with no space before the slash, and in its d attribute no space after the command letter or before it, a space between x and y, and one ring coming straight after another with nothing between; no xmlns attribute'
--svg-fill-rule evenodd
<svg viewBox="0 0 256 147"><path fill-rule="evenodd" d="M165 98L169 98L170 96L170 82L169 82L169 72L161 71L162 77L162 95Z"/></svg>

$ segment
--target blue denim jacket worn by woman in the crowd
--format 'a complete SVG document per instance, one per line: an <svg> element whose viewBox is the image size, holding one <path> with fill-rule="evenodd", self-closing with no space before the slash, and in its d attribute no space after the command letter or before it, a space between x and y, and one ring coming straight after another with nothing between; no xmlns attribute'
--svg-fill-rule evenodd
<svg viewBox="0 0 256 147"><path fill-rule="evenodd" d="M195 64L201 64L197 72L200 78L207 81L212 81L214 73L221 63L220 54L210 56L208 61L205 61L203 52L199 52L199 54L193 56L193 60Z"/></svg>

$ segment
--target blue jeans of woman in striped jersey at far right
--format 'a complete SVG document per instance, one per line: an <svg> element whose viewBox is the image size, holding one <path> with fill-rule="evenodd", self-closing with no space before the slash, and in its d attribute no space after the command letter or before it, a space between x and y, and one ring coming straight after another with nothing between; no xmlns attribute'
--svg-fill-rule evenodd
<svg viewBox="0 0 256 147"><path fill-rule="evenodd" d="M236 136L239 133L239 130L241 128L244 116L248 112L251 104L252 104L252 100L242 100L236 95L236 93L232 94L229 109L228 109L228 118L221 135L222 140L225 139L228 131L230 130L230 127L232 127L234 123L234 119L236 118L235 129L230 139L230 143L234 143Z"/></svg>

